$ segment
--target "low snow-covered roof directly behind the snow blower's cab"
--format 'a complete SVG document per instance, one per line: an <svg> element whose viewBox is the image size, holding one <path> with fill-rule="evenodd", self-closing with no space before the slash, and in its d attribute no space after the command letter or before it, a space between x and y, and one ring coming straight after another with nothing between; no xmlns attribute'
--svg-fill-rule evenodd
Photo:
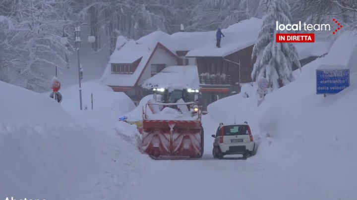
<svg viewBox="0 0 357 200"><path fill-rule="evenodd" d="M199 86L197 66L169 66L141 84L145 89L153 87L173 89L197 89Z"/></svg>

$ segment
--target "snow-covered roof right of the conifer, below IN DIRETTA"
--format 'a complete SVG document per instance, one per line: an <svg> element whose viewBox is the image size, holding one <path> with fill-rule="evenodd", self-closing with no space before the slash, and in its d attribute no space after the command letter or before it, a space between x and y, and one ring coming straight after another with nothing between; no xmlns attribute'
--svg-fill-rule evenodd
<svg viewBox="0 0 357 200"><path fill-rule="evenodd" d="M310 56L321 56L331 48L330 42L314 42L314 43L295 43L299 60L308 58Z"/></svg>

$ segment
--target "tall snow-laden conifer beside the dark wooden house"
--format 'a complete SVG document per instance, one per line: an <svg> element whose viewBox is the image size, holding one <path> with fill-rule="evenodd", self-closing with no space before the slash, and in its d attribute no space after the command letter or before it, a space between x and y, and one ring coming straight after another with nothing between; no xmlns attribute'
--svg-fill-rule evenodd
<svg viewBox="0 0 357 200"><path fill-rule="evenodd" d="M256 58L256 61L251 78L256 81L266 78L272 90L294 80L293 68L301 69L295 46L291 43L276 43L276 21L291 24L290 6L286 0L271 1L252 52L252 58Z"/></svg>

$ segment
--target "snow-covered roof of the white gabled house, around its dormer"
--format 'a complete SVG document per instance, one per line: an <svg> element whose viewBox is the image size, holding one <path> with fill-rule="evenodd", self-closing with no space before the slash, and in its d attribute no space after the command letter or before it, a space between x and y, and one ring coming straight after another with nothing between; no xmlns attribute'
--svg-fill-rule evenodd
<svg viewBox="0 0 357 200"><path fill-rule="evenodd" d="M109 86L134 86L144 70L156 45L162 44L165 48L176 54L178 50L192 50L206 43L208 32L178 32L172 35L156 31L140 38L137 41L125 41L125 38L118 37L117 46L110 57L102 80ZM133 63L141 58L136 70L132 74L112 74L110 63Z"/></svg>

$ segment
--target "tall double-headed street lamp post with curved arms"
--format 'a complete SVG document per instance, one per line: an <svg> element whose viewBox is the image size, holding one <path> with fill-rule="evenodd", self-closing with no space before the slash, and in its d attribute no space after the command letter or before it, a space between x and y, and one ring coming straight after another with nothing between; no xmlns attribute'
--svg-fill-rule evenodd
<svg viewBox="0 0 357 200"><path fill-rule="evenodd" d="M82 89L81 89L81 79L83 79L83 73L82 73L82 68L80 67L80 60L79 60L79 47L81 45L81 39L80 39L80 28L84 25L89 26L89 28L91 29L91 34L88 36L88 42L89 43L94 43L95 42L95 37L93 35L93 30L92 27L87 24L87 23L82 23L81 25L78 25L78 23L76 23L75 25L72 24L66 24L63 26L63 30L62 30L62 37L60 39L60 42L62 44L67 44L68 43L68 39L66 34L64 33L64 28L66 26L71 26L74 28L74 37L75 37L75 47L77 50L77 58L78 58L78 79L79 79L79 106L80 106L80 110L82 110Z"/></svg>

